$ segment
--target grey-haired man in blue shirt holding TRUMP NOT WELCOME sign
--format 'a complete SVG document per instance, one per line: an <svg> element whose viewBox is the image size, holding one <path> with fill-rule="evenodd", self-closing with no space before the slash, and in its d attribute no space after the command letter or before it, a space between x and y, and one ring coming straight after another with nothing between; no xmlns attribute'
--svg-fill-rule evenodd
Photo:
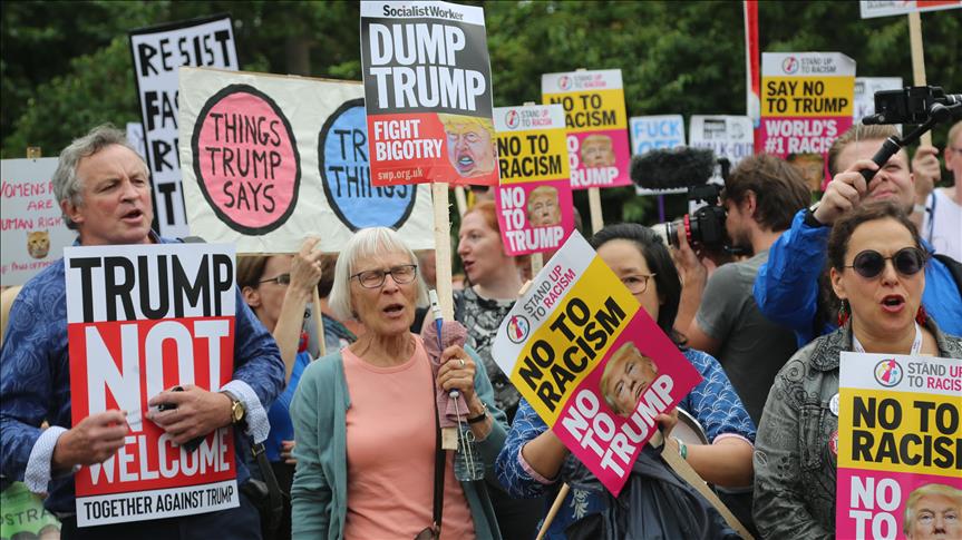
<svg viewBox="0 0 962 540"><path fill-rule="evenodd" d="M77 244L97 246L97 253L113 249L119 255L78 257L72 259L69 269L60 261L45 268L21 291L11 310L10 331L0 360L0 473L7 479L25 480L35 492L49 493L46 507L62 520L64 538L259 538L256 510L232 488L213 493L187 493L190 498L178 497L184 494L186 488L178 488L181 493L169 493L176 490L156 490L168 491L158 493L156 498L127 498L137 491L138 485L148 485L178 474L193 475L204 467L216 469L227 480L225 483L235 487L246 480L249 474L242 463L225 459L233 453L230 441L232 430L222 428L245 423L247 433L257 442L268 434L265 406L283 385L283 364L270 334L240 301L236 289L231 291L232 257L211 257L211 279L214 282L211 285L201 281L200 273L194 283L186 283L191 278L183 275L184 267L177 265L179 259L169 256L173 287L179 287L184 296L176 293L173 298L165 296L165 287L169 284L167 267L162 265L166 264L168 259L165 257L168 255L152 258L149 254L139 254L148 253L146 245L171 244L172 240L163 239L150 230L153 208L146 166L127 144L124 134L110 127L95 128L64 150L54 176L54 189L68 227L79 234ZM129 246L132 244L143 246ZM127 247L123 251L110 247L120 245ZM90 251L93 248L72 249L78 255L95 253ZM159 251L159 246L150 249ZM138 254L136 258L139 264L135 266L130 263L129 255L124 252ZM221 264L217 265L217 262ZM156 268L148 268L148 264L153 263L158 263ZM217 272L217 267L221 272ZM80 286L69 291L70 296L79 295L79 303L67 300L65 276L69 277L69 274L81 276L78 282ZM103 282L97 281L98 276ZM138 284L142 279L148 279L149 283ZM137 291L140 292L139 302ZM224 313L233 310L233 306L222 306L226 304L224 298L236 301L237 310L235 317L222 317L225 320L222 326L225 327L223 335L226 338L214 340L216 336L211 335L208 340L203 340L202 333L196 330L193 336L186 337L197 343L210 342L210 346L204 347L206 352L197 352L197 360L205 357L205 354L208 356L212 364L210 373L203 371L201 362L196 365L192 362L193 352L185 351L179 340L173 340L177 342L176 348L168 346L166 337L161 337L150 346L149 334L155 328L176 322L184 312L192 308L196 311L194 306L203 305L208 315L206 318L214 320L222 307ZM177 318L165 318L168 316L168 302L175 306L169 311L176 313L173 316ZM153 310L155 303L162 307ZM213 308L211 303L214 304ZM134 305L139 307L134 308ZM103 316L105 311L106 317ZM143 320L122 326L123 337L108 336L109 343L100 337L97 330L106 328L104 323L71 324L68 340L68 313L71 322L75 322L75 315L82 312L86 322L96 317L113 320L109 324L116 324L124 320L118 316L118 312L127 314L126 321L130 321L130 312L137 311L152 312L153 316L147 315L147 318L163 321L148 332L146 344L137 343L134 334L136 351L129 350L132 343L128 334L132 327L135 332L142 327L142 323L145 323ZM195 328L200 325L195 322ZM78 338L80 343L84 338L84 335L72 334L75 327L86 332L85 351L75 348ZM143 327L147 327L147 324L143 324ZM90 344L95 342L103 346L98 350ZM221 343L230 344L231 347L221 352ZM113 360L122 348L119 356L123 370ZM138 361L140 351L147 357L146 369ZM176 354L171 354L174 351ZM86 364L75 357L79 353L86 356ZM150 362L152 357L157 359L162 354L162 361ZM217 374L220 366L231 364L234 366L232 375L229 375L230 371L224 372L223 376ZM156 373L158 365L162 366L161 372ZM171 365L177 365L176 375L169 372ZM87 376L82 377L78 369L87 372ZM198 385L181 384L194 381L191 369L198 371ZM104 375L105 370L113 375ZM101 376L103 380L99 379ZM220 392L201 387L205 376L207 386L217 387ZM149 395L143 395L143 380L146 380ZM125 381L132 381L134 387L126 387L123 384ZM89 394L71 395L82 383L90 385ZM149 392L150 389L159 391L173 386L182 390ZM125 391L134 392L135 395L132 397ZM139 396L136 395L138 391L142 392ZM122 410L125 409L120 406L122 403L132 406L125 411ZM71 419L71 410L89 410L90 414L72 414ZM144 418L154 425L143 422ZM45 420L50 428L41 430L39 426ZM166 444L161 444L162 455L164 451L174 455L167 461L162 458L159 471L150 469L152 464L156 465L156 456L145 456L156 452L157 448L143 445L143 434L134 436L137 432L150 430L162 433L162 442L166 441ZM200 449L193 450L194 444ZM138 449L139 454L135 455ZM176 458L178 451L179 460ZM82 507L79 502L75 503L75 475L78 493L81 485L90 482L96 484L98 478L101 484L106 479L108 490L118 484L132 483L119 493L114 489L113 493L116 494L100 497L95 501L96 504ZM158 480L158 477L163 479ZM194 483L205 480L202 472ZM196 518L158 519L210 512L212 509L221 510ZM122 523L126 521L135 522ZM91 527L105 523L120 524Z"/></svg>

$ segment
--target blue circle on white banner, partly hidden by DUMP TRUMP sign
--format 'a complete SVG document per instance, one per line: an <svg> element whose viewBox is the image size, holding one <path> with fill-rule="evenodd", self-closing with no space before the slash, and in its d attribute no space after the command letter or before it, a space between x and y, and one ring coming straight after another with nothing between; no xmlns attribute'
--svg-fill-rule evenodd
<svg viewBox="0 0 962 540"><path fill-rule="evenodd" d="M351 230L398 229L415 207L416 185L371 186L365 100L341 105L318 138L318 165L324 195L334 214Z"/></svg>

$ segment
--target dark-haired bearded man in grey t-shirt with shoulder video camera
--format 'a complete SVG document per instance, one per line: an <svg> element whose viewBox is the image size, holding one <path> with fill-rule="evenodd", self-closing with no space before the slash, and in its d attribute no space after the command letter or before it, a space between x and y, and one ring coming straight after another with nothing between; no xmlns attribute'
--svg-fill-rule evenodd
<svg viewBox="0 0 962 540"><path fill-rule="evenodd" d="M718 359L756 423L761 419L775 374L796 347L789 328L768 321L758 311L751 287L758 267L768 259L768 248L808 202L805 178L795 167L759 154L736 167L722 192L729 242L754 254L751 258L721 265L707 277L686 234L678 234L677 259L684 288L676 325L689 345ZM765 351L765 356L759 356L758 351Z"/></svg>

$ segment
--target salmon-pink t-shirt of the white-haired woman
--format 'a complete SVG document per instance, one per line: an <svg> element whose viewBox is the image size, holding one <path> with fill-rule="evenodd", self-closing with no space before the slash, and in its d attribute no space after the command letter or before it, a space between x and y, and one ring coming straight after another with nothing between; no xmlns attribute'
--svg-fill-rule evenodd
<svg viewBox="0 0 962 540"><path fill-rule="evenodd" d="M415 354L393 367L371 365L344 348L348 518L344 538L414 538L431 523L435 473L435 405L428 355L419 336ZM475 538L470 508L445 470L443 539Z"/></svg>

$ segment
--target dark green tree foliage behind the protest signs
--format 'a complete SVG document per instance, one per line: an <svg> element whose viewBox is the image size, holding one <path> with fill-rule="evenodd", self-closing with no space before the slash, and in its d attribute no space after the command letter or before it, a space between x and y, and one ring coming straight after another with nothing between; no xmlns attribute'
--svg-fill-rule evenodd
<svg viewBox="0 0 962 540"><path fill-rule="evenodd" d="M541 73L620 68L629 116L745 112L741 2L483 6L496 106L540 101ZM759 2L758 11L762 51L840 51L861 76L912 81L905 17L862 20L857 2L835 1ZM136 121L127 32L222 12L233 17L246 70L360 78L356 2L8 1L0 22L2 156L22 156L27 145L54 155L95 124ZM962 91L960 11L923 13L922 27L929 81ZM937 130L936 144L944 137ZM651 198L630 194L604 190L605 215L650 222ZM583 195L576 202L584 212Z"/></svg>

